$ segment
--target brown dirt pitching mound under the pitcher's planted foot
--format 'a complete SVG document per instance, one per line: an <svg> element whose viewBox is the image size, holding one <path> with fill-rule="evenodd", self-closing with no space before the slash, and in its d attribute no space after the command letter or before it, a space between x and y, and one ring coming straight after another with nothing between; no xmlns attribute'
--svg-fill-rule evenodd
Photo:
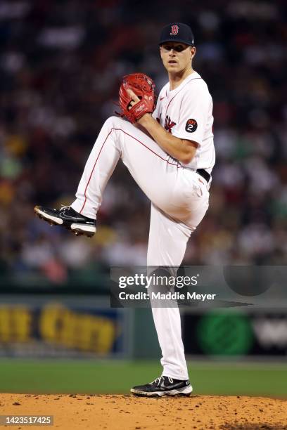
<svg viewBox="0 0 287 430"><path fill-rule="evenodd" d="M287 429L287 401L273 398L0 394L0 415L53 415L48 429ZM43 429L33 426L32 429ZM27 426L14 427L27 429Z"/></svg>

